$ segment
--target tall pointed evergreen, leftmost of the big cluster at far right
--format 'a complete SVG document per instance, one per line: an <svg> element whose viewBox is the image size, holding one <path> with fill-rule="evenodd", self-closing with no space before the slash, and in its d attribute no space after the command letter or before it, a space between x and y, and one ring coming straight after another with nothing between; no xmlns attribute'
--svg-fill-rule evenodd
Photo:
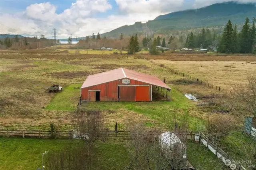
<svg viewBox="0 0 256 170"><path fill-rule="evenodd" d="M232 39L233 39L233 28L232 23L228 20L222 34L222 38L219 43L219 51L222 53L230 53L232 51Z"/></svg>

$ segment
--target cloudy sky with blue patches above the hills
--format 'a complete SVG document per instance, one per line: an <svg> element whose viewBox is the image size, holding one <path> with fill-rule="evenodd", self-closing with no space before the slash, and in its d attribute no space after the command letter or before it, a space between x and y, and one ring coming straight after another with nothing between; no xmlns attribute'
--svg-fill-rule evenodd
<svg viewBox="0 0 256 170"><path fill-rule="evenodd" d="M0 34L84 37L230 0L0 0ZM256 0L236 0L256 2Z"/></svg>

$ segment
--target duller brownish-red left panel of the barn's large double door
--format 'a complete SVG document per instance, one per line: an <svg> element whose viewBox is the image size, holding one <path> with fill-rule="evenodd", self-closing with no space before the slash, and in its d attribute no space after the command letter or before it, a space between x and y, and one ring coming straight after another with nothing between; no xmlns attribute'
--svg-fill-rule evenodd
<svg viewBox="0 0 256 170"><path fill-rule="evenodd" d="M135 101L136 86L120 86L119 101Z"/></svg>

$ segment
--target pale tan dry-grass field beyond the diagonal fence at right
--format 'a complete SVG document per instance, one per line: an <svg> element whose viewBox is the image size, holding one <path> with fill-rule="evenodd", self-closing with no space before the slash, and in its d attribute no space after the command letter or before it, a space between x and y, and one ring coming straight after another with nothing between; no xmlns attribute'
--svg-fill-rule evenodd
<svg viewBox="0 0 256 170"><path fill-rule="evenodd" d="M246 83L247 75L256 72L255 61L153 61L229 90L236 83Z"/></svg>

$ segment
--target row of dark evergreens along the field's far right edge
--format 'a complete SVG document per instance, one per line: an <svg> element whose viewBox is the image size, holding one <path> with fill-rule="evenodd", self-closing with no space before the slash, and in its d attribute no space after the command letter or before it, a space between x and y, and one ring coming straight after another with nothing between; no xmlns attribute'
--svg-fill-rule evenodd
<svg viewBox="0 0 256 170"><path fill-rule="evenodd" d="M202 29L200 34L190 32L188 34L185 47L188 48L208 48L215 46L216 50L221 53L256 53L256 19L250 23L247 17L242 30L238 32L237 26L232 24L230 20L224 27L222 34L217 35L208 28Z"/></svg>

